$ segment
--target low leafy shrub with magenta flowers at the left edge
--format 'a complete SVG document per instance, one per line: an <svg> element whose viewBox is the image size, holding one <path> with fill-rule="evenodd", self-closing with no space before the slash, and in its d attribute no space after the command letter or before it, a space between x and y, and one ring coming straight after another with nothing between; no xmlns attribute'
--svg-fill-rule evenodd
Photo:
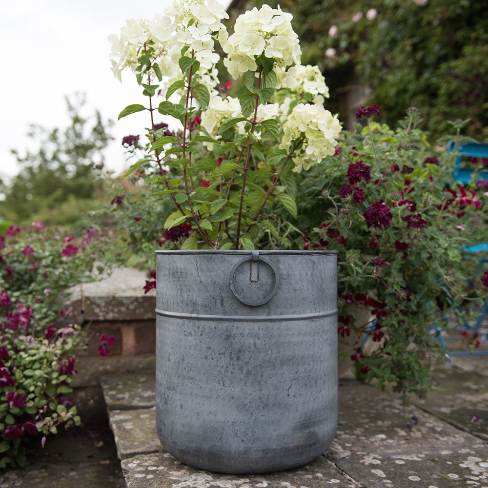
<svg viewBox="0 0 488 488"><path fill-rule="evenodd" d="M42 435L44 445L61 424L80 424L63 395L87 338L66 324L60 304L67 288L90 277L98 234L63 238L38 222L33 232L11 226L0 236L0 468L25 465L29 437Z"/></svg>

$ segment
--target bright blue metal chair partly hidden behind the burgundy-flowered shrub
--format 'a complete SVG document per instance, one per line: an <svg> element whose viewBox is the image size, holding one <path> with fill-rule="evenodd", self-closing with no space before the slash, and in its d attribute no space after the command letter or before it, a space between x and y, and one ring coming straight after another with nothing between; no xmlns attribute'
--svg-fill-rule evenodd
<svg viewBox="0 0 488 488"><path fill-rule="evenodd" d="M454 180L460 182L464 185L468 184L472 181L473 176L476 180L488 180L488 168L481 168L477 170L473 175L473 169L467 167L463 164L463 159L466 158L488 158L488 144L484 143L475 143L475 142L463 142L456 144L454 141L449 141L447 144L447 151L454 152L458 154L453 171ZM463 247L466 256L469 258L475 258L478 260L478 264L476 267L476 271L483 272L484 266L488 263L488 242L477 244L473 246L464 246ZM488 297L483 299L483 305L480 311L480 314L476 320L476 322L472 325L468 324L468 321L464 321L458 329L461 329L464 332L467 332L470 337L475 336L475 334L479 334L479 329L484 320L488 319ZM438 327L434 327L434 330L438 331ZM478 336L480 342L488 342L488 330L481 336ZM446 351L446 356L468 356L468 355L488 355L488 350L448 350L447 349L447 342L450 341L459 341L462 338L457 337L443 337L439 335L439 342L443 349Z"/></svg>

